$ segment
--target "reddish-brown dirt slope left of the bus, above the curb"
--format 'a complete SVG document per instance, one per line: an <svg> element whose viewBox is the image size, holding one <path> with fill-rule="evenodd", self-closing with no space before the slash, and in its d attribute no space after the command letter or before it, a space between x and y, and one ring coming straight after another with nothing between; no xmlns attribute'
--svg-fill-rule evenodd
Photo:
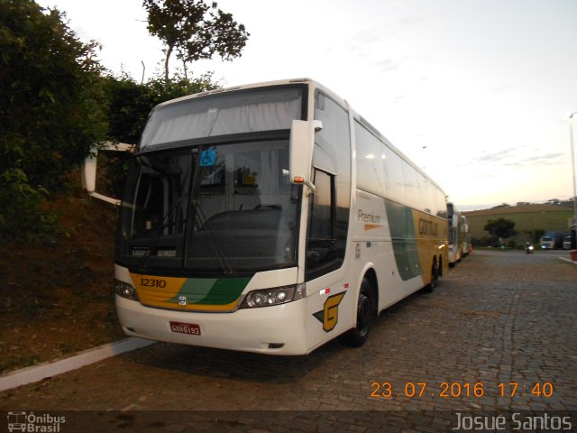
<svg viewBox="0 0 577 433"><path fill-rule="evenodd" d="M76 183L78 179L78 183ZM87 198L75 178L55 241L0 245L0 373L123 337L114 311L116 209Z"/></svg>

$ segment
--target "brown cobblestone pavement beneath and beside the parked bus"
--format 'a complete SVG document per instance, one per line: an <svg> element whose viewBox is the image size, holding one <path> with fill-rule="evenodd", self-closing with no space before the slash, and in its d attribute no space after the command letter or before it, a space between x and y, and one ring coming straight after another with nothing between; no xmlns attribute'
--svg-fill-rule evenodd
<svg viewBox="0 0 577 433"><path fill-rule="evenodd" d="M433 293L383 313L358 349L157 344L0 393L0 410L89 410L65 412L65 427L91 431L434 432L451 431L457 411L568 414L577 431L577 266L562 254L475 252Z"/></svg>

